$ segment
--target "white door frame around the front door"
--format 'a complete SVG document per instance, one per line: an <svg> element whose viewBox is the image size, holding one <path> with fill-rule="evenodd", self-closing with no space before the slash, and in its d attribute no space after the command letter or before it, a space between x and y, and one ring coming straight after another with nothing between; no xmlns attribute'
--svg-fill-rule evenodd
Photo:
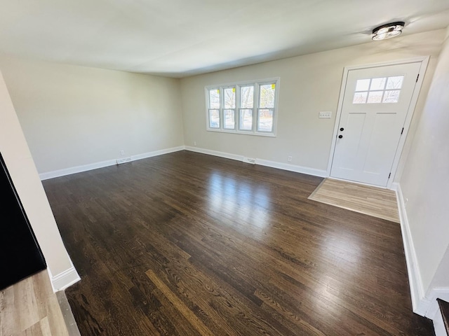
<svg viewBox="0 0 449 336"><path fill-rule="evenodd" d="M330 156L328 162L328 169L326 171L326 176L330 176L330 169L332 168L332 162L335 154L335 144L337 142L337 133L338 133L338 125L340 125L340 117L342 116L342 106L343 106L343 98L344 92L346 90L346 83L349 70L358 70L358 69L368 69L375 68L377 66L388 66L388 65L398 65L398 64L407 64L407 63L416 63L421 62L420 66L420 75L415 85L415 90L413 90L412 99L410 100L410 106L408 106L406 122L404 123L404 131L401 139L399 139L398 149L396 151L396 155L394 155L393 166L391 167L391 176L387 183L387 189L391 189L394 181L394 176L396 176L396 170L398 169L399 160L401 159L401 153L404 147L404 144L407 139L408 129L410 127L410 123L412 121L413 113L415 111L416 103L418 100L418 96L421 91L422 81L424 80L424 73L426 73L427 65L429 64L430 56L427 57L417 57L412 59L401 59L394 62L381 62L375 64L365 64L358 66L345 66L343 69L343 78L342 78L342 87L340 89L340 97L338 99L337 106L337 114L335 116L335 125L334 132L332 137L332 145L330 146Z"/></svg>

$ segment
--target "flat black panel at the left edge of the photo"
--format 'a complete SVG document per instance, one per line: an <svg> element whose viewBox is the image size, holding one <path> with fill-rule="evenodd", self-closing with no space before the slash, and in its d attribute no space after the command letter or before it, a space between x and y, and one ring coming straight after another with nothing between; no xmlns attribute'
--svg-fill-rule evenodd
<svg viewBox="0 0 449 336"><path fill-rule="evenodd" d="M0 153L0 290L46 269L41 248Z"/></svg>

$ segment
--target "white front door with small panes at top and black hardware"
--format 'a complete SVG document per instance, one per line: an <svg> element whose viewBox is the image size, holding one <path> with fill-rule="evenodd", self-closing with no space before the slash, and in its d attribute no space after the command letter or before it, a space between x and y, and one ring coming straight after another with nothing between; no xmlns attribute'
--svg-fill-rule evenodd
<svg viewBox="0 0 449 336"><path fill-rule="evenodd" d="M420 66L348 71L331 177L387 186Z"/></svg>

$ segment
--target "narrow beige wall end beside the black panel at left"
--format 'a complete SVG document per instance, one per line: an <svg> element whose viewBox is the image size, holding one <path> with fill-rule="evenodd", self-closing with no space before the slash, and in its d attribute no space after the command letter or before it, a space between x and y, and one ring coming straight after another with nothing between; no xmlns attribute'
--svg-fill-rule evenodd
<svg viewBox="0 0 449 336"><path fill-rule="evenodd" d="M0 152L53 276L72 268L0 73ZM4 272L4 270L2 270ZM77 275L76 275L77 276Z"/></svg>

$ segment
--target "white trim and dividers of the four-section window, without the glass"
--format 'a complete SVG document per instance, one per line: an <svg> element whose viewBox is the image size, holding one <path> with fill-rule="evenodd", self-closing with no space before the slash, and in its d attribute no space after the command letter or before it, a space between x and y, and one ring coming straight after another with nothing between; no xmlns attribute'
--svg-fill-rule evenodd
<svg viewBox="0 0 449 336"><path fill-rule="evenodd" d="M277 129L277 119L279 114L278 104L279 104L279 87L281 83L281 78L275 77L275 78L264 78L261 80L245 80L241 82L234 82L234 83L225 83L225 84L217 84L217 85L206 85L204 87L204 94L205 94L205 102L206 102L206 131L209 132L221 132L221 133L231 133L231 134L246 134L246 135L255 135L260 137L276 137L276 129ZM259 95L260 95L260 85L267 85L267 84L274 84L276 85L276 90L274 90L274 107L273 108L261 108L259 106ZM252 122L252 128L251 130L240 130L240 88L254 85L254 104L253 104L253 122ZM235 87L236 88L236 104L234 108L234 130L225 128L225 114L224 110L224 89L227 89L229 87ZM219 109L219 116L220 116L220 125L219 127L210 127L210 120L209 120L209 90L220 90L220 109ZM264 131L258 131L257 125L259 121L259 110L260 109L268 109L273 111L273 128L272 132L264 132ZM215 110L215 109L213 109ZM232 110L232 109L231 109Z"/></svg>

